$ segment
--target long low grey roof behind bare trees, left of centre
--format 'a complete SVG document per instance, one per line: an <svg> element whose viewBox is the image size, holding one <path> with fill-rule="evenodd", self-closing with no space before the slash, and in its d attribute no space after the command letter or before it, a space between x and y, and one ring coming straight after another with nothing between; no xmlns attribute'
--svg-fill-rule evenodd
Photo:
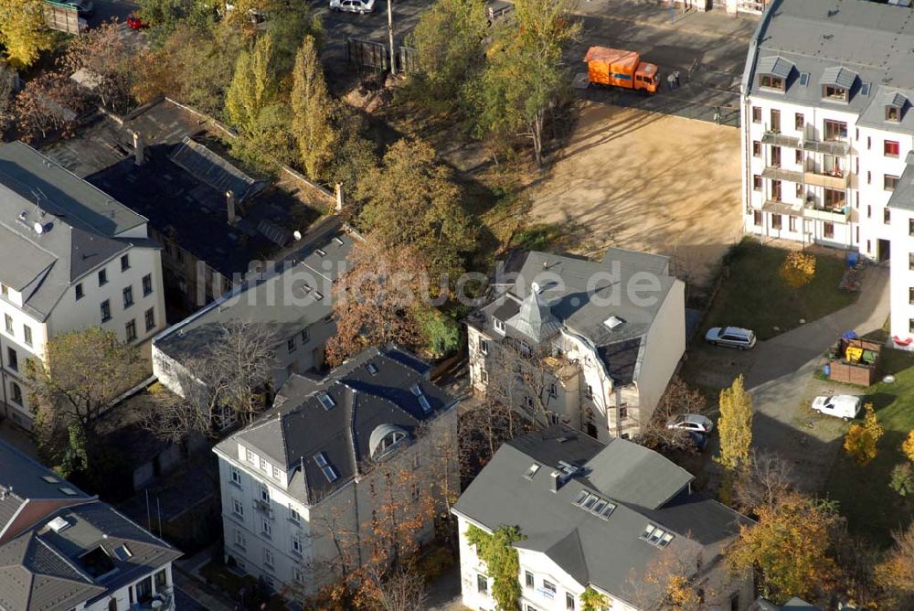
<svg viewBox="0 0 914 611"><path fill-rule="evenodd" d="M357 239L339 220L327 220L303 239L299 251L165 329L154 338L155 347L180 362L221 337L232 321L263 325L277 341L292 337L333 312L333 284L345 272Z"/></svg>

